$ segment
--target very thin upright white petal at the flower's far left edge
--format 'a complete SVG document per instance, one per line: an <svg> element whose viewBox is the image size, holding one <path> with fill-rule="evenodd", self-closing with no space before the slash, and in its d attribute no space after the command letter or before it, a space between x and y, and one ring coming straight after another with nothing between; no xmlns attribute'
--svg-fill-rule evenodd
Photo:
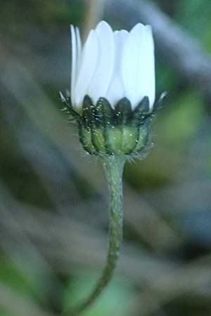
<svg viewBox="0 0 211 316"><path fill-rule="evenodd" d="M75 88L75 80L76 80L76 63L77 63L77 40L76 40L76 34L75 34L75 27L73 25L70 25L70 32L71 32L71 78L70 78L70 93L71 98L73 96L73 91Z"/></svg>

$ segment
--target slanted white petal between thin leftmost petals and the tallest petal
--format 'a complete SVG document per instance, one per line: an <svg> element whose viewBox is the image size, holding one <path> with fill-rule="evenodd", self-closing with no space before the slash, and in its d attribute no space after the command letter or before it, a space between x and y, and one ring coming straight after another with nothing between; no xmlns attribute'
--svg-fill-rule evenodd
<svg viewBox="0 0 211 316"><path fill-rule="evenodd" d="M82 105L84 96L88 93L91 79L94 77L98 66L99 43L94 29L89 32L86 43L82 51L82 61L79 67L78 79L75 86L73 105Z"/></svg>

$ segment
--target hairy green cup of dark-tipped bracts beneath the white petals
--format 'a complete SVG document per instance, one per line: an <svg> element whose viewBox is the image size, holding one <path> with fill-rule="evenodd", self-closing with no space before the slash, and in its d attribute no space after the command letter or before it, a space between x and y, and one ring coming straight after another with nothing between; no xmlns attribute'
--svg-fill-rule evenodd
<svg viewBox="0 0 211 316"><path fill-rule="evenodd" d="M73 110L70 98L61 93L60 98L70 117L77 121L79 140L89 154L136 156L148 145L151 122L165 95L162 93L153 110L150 110L148 97L132 110L127 98L122 98L113 109L106 98L99 98L94 105L91 98L85 96L81 114Z"/></svg>

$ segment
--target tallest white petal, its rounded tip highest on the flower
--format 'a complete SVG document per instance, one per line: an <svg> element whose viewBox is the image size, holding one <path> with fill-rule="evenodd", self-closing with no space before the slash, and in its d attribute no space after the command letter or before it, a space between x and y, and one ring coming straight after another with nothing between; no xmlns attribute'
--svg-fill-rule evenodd
<svg viewBox="0 0 211 316"><path fill-rule="evenodd" d="M88 95L94 103L100 97L105 97L113 74L114 66L114 36L108 23L102 21L96 27L100 44L98 65L89 86Z"/></svg>

